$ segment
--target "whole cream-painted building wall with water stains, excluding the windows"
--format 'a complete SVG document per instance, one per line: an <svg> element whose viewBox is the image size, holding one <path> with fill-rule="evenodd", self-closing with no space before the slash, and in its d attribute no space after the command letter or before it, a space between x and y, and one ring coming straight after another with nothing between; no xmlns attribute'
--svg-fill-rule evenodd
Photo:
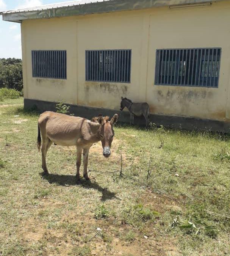
<svg viewBox="0 0 230 256"><path fill-rule="evenodd" d="M147 101L151 113L230 118L230 3L93 14L22 22L25 98L119 109L120 97ZM219 88L154 85L155 52L221 47ZM67 80L32 77L31 50L67 50ZM85 50L132 49L131 83L85 81Z"/></svg>

